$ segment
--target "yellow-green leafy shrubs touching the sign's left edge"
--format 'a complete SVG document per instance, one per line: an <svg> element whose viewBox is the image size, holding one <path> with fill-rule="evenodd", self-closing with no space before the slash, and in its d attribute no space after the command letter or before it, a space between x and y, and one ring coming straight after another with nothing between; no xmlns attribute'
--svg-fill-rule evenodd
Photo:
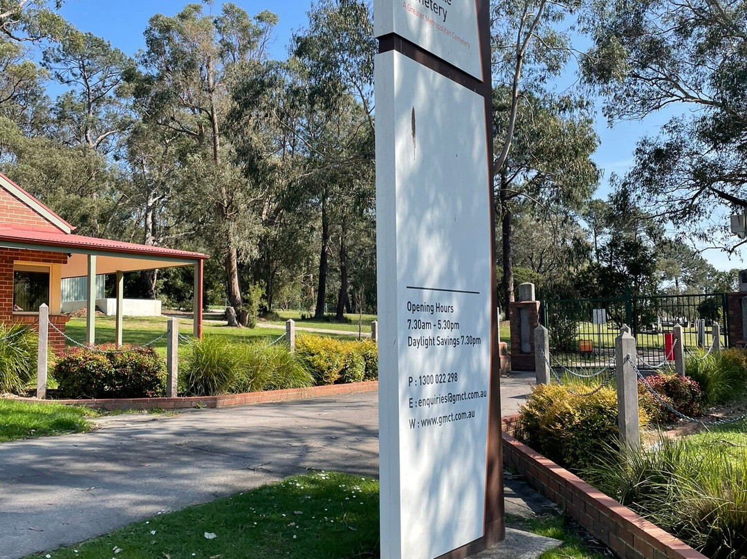
<svg viewBox="0 0 747 559"><path fill-rule="evenodd" d="M317 386L358 383L379 377L373 342L344 342L334 338L298 336L296 352L314 376Z"/></svg>

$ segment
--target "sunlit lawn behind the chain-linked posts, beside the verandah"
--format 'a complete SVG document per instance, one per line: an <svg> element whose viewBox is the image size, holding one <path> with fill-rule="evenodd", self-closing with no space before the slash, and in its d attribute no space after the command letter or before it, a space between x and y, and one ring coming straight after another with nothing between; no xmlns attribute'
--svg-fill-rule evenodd
<svg viewBox="0 0 747 559"><path fill-rule="evenodd" d="M114 321L113 316L96 317L96 343L114 343ZM123 319L122 339L125 344L143 345L166 333L168 318L165 316L153 318L125 317ZM179 323L179 332L185 336L192 335L192 321L183 320ZM86 339L86 319L72 318L65 328L65 333L77 342ZM272 341L278 336L285 334L285 327L275 329L269 328L230 328L220 324L203 324L202 333L208 336L220 336L229 338L236 342L248 342L265 339ZM67 342L72 345L72 342ZM155 342L153 347L162 356L166 356L166 338ZM182 345L183 347L183 345Z"/></svg>

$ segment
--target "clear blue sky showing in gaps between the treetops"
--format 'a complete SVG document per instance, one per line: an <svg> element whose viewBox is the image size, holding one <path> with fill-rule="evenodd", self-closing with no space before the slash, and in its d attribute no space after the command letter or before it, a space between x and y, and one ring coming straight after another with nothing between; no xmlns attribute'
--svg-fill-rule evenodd
<svg viewBox="0 0 747 559"><path fill-rule="evenodd" d="M311 0L234 0L234 3L243 7L250 15L265 9L278 14L280 21L275 30L271 54L273 58L285 58L291 34L306 25L306 12ZM66 0L60 13L81 31L90 31L104 37L113 46L128 55L134 55L144 46L143 31L148 25L148 19L155 13L173 15L185 4L186 0ZM212 9L220 10L220 0L216 1ZM574 81L574 76L564 76L560 81L570 84ZM672 112L654 114L640 122L619 123L614 129L608 129L607 121L599 115L597 133L601 138L601 145L594 158L604 169L604 180L598 190L598 197L607 196L607 180L612 173L624 174L630 167L633 149L639 138L656 134L658 127L671 116ZM729 261L723 253L716 250L707 250L704 256L722 270L742 266L740 259L733 258Z"/></svg>

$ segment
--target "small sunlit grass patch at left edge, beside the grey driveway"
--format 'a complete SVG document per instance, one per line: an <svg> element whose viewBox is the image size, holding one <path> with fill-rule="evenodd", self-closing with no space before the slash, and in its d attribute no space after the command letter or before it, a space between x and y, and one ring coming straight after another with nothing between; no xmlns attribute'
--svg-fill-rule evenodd
<svg viewBox="0 0 747 559"><path fill-rule="evenodd" d="M0 442L84 433L93 428L86 418L96 415L82 407L0 400Z"/></svg>

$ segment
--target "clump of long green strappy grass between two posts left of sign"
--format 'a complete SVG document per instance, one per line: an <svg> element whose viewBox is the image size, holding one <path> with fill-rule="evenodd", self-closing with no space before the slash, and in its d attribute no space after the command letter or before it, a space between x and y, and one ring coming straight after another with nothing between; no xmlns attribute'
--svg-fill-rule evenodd
<svg viewBox="0 0 747 559"><path fill-rule="evenodd" d="M182 386L193 396L312 386L303 361L284 345L235 343L215 336L187 346Z"/></svg>

